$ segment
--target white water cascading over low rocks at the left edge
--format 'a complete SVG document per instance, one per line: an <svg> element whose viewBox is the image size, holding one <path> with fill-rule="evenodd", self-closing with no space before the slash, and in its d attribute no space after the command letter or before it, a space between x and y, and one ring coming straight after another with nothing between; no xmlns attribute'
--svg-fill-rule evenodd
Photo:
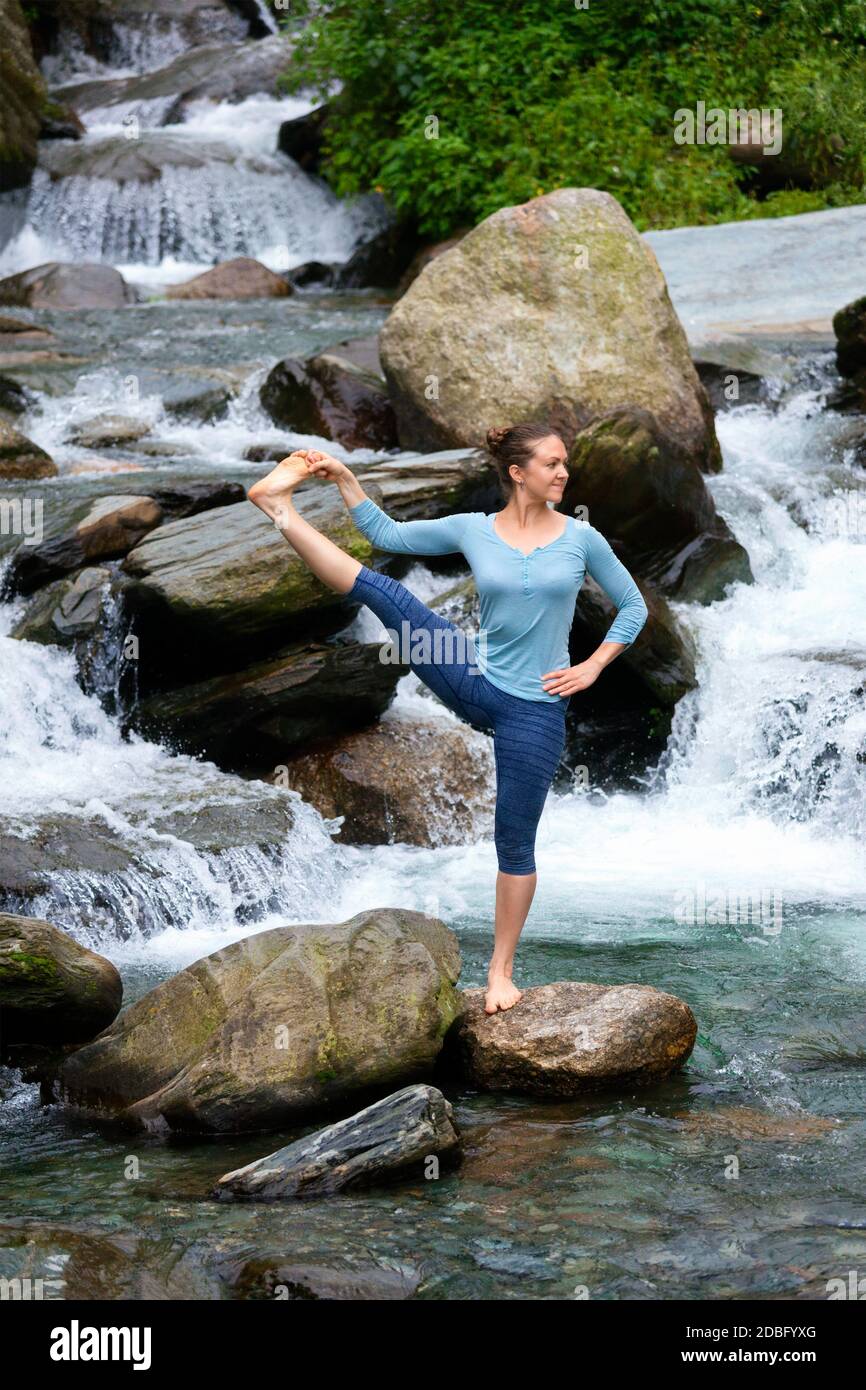
<svg viewBox="0 0 866 1390"><path fill-rule="evenodd" d="M317 916L339 876L339 849L317 812L279 787L124 739L79 689L70 653L7 635L18 606L0 606L0 823L54 851L76 833L104 840L125 860L114 865L111 855L104 870L72 862L26 910L79 940L125 938L131 949L178 930L192 931L195 949L199 934L240 935L288 903ZM225 823L236 842L229 833L225 845L196 848L185 834L190 817Z"/></svg>

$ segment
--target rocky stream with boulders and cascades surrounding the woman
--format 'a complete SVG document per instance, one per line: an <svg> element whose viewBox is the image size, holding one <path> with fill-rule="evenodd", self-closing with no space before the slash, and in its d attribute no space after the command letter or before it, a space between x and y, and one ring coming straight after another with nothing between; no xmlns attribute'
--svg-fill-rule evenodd
<svg viewBox="0 0 866 1390"><path fill-rule="evenodd" d="M866 1123L859 210L639 238L563 189L407 270L317 181L267 13L90 10L33 36L64 114L33 75L0 197L3 1273L824 1297ZM489 741L243 495L316 443L396 517L493 510L484 428L535 411L651 621L570 713L487 1020ZM473 627L460 557L299 496ZM575 659L610 616L587 582Z"/></svg>

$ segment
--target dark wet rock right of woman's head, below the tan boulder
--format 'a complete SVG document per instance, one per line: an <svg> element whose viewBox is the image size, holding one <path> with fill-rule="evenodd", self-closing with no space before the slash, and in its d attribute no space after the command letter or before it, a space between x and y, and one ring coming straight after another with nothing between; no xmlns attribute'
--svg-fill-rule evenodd
<svg viewBox="0 0 866 1390"><path fill-rule="evenodd" d="M712 602L752 582L748 555L716 512L703 475L646 410L617 407L581 430L563 510L596 527L634 574L663 594Z"/></svg>

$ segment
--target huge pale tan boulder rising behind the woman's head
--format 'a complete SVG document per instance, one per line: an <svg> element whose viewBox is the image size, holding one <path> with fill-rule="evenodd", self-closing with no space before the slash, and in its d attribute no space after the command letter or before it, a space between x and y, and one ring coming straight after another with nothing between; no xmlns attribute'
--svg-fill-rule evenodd
<svg viewBox="0 0 866 1390"><path fill-rule="evenodd" d="M609 193L564 188L493 213L421 271L379 345L405 446L480 445L491 425L535 418L570 442L628 403L681 457L720 467L664 277Z"/></svg>

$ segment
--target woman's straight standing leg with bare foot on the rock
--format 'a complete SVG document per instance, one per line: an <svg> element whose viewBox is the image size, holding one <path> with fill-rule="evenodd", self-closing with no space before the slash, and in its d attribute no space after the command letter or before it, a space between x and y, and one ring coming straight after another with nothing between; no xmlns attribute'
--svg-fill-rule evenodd
<svg viewBox="0 0 866 1390"><path fill-rule="evenodd" d="M488 967L487 1013L510 1009L520 998L512 980L514 954L538 877L535 835L566 741L564 703L505 695L495 721L496 919Z"/></svg>

